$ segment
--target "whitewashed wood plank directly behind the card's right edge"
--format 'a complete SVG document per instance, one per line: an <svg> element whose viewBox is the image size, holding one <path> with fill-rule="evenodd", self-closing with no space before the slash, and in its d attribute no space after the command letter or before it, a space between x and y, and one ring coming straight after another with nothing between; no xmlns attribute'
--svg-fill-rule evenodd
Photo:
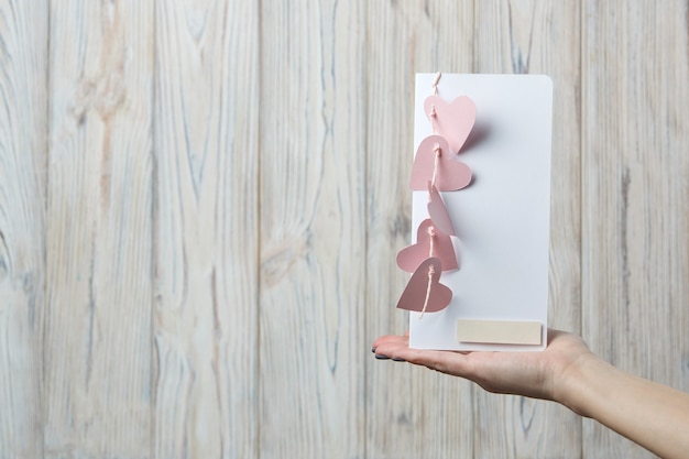
<svg viewBox="0 0 689 459"><path fill-rule="evenodd" d="M554 80L548 325L578 334L579 7L576 2L481 1L475 24L475 72L546 74ZM581 457L581 420L562 406L479 392L475 415L475 457Z"/></svg>

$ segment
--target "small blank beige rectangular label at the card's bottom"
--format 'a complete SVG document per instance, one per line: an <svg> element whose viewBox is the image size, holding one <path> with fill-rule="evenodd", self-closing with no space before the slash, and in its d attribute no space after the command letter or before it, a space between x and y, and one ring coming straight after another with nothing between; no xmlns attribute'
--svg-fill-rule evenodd
<svg viewBox="0 0 689 459"><path fill-rule="evenodd" d="M540 332L542 325L537 321L457 320L459 342L539 346Z"/></svg>

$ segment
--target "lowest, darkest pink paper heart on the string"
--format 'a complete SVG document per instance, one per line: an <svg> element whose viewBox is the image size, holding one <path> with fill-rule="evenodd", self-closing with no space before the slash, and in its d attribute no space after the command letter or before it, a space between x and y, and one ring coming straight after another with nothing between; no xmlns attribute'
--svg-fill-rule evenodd
<svg viewBox="0 0 689 459"><path fill-rule="evenodd" d="M434 273L430 275L430 292L428 292L428 272L433 266ZM424 260L418 269L412 274L407 286L402 292L397 302L400 309L416 310L425 313L437 313L450 304L452 291L440 284L440 260L430 258ZM428 302L426 293L428 292ZM424 309L424 304L426 308Z"/></svg>

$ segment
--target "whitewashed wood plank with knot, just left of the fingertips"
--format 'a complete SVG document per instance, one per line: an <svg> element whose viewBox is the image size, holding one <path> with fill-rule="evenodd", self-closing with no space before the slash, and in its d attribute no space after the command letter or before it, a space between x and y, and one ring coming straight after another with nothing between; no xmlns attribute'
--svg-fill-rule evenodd
<svg viewBox="0 0 689 459"><path fill-rule="evenodd" d="M364 0L262 2L262 457L363 457Z"/></svg>

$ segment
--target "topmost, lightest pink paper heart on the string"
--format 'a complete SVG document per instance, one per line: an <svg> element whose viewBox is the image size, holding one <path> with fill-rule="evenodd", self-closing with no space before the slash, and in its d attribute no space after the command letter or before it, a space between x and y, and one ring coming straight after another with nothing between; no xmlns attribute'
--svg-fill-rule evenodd
<svg viewBox="0 0 689 459"><path fill-rule="evenodd" d="M477 121L473 101L462 96L448 103L439 96L430 96L424 101L424 110L429 116L434 132L446 138L452 152L458 153Z"/></svg>

